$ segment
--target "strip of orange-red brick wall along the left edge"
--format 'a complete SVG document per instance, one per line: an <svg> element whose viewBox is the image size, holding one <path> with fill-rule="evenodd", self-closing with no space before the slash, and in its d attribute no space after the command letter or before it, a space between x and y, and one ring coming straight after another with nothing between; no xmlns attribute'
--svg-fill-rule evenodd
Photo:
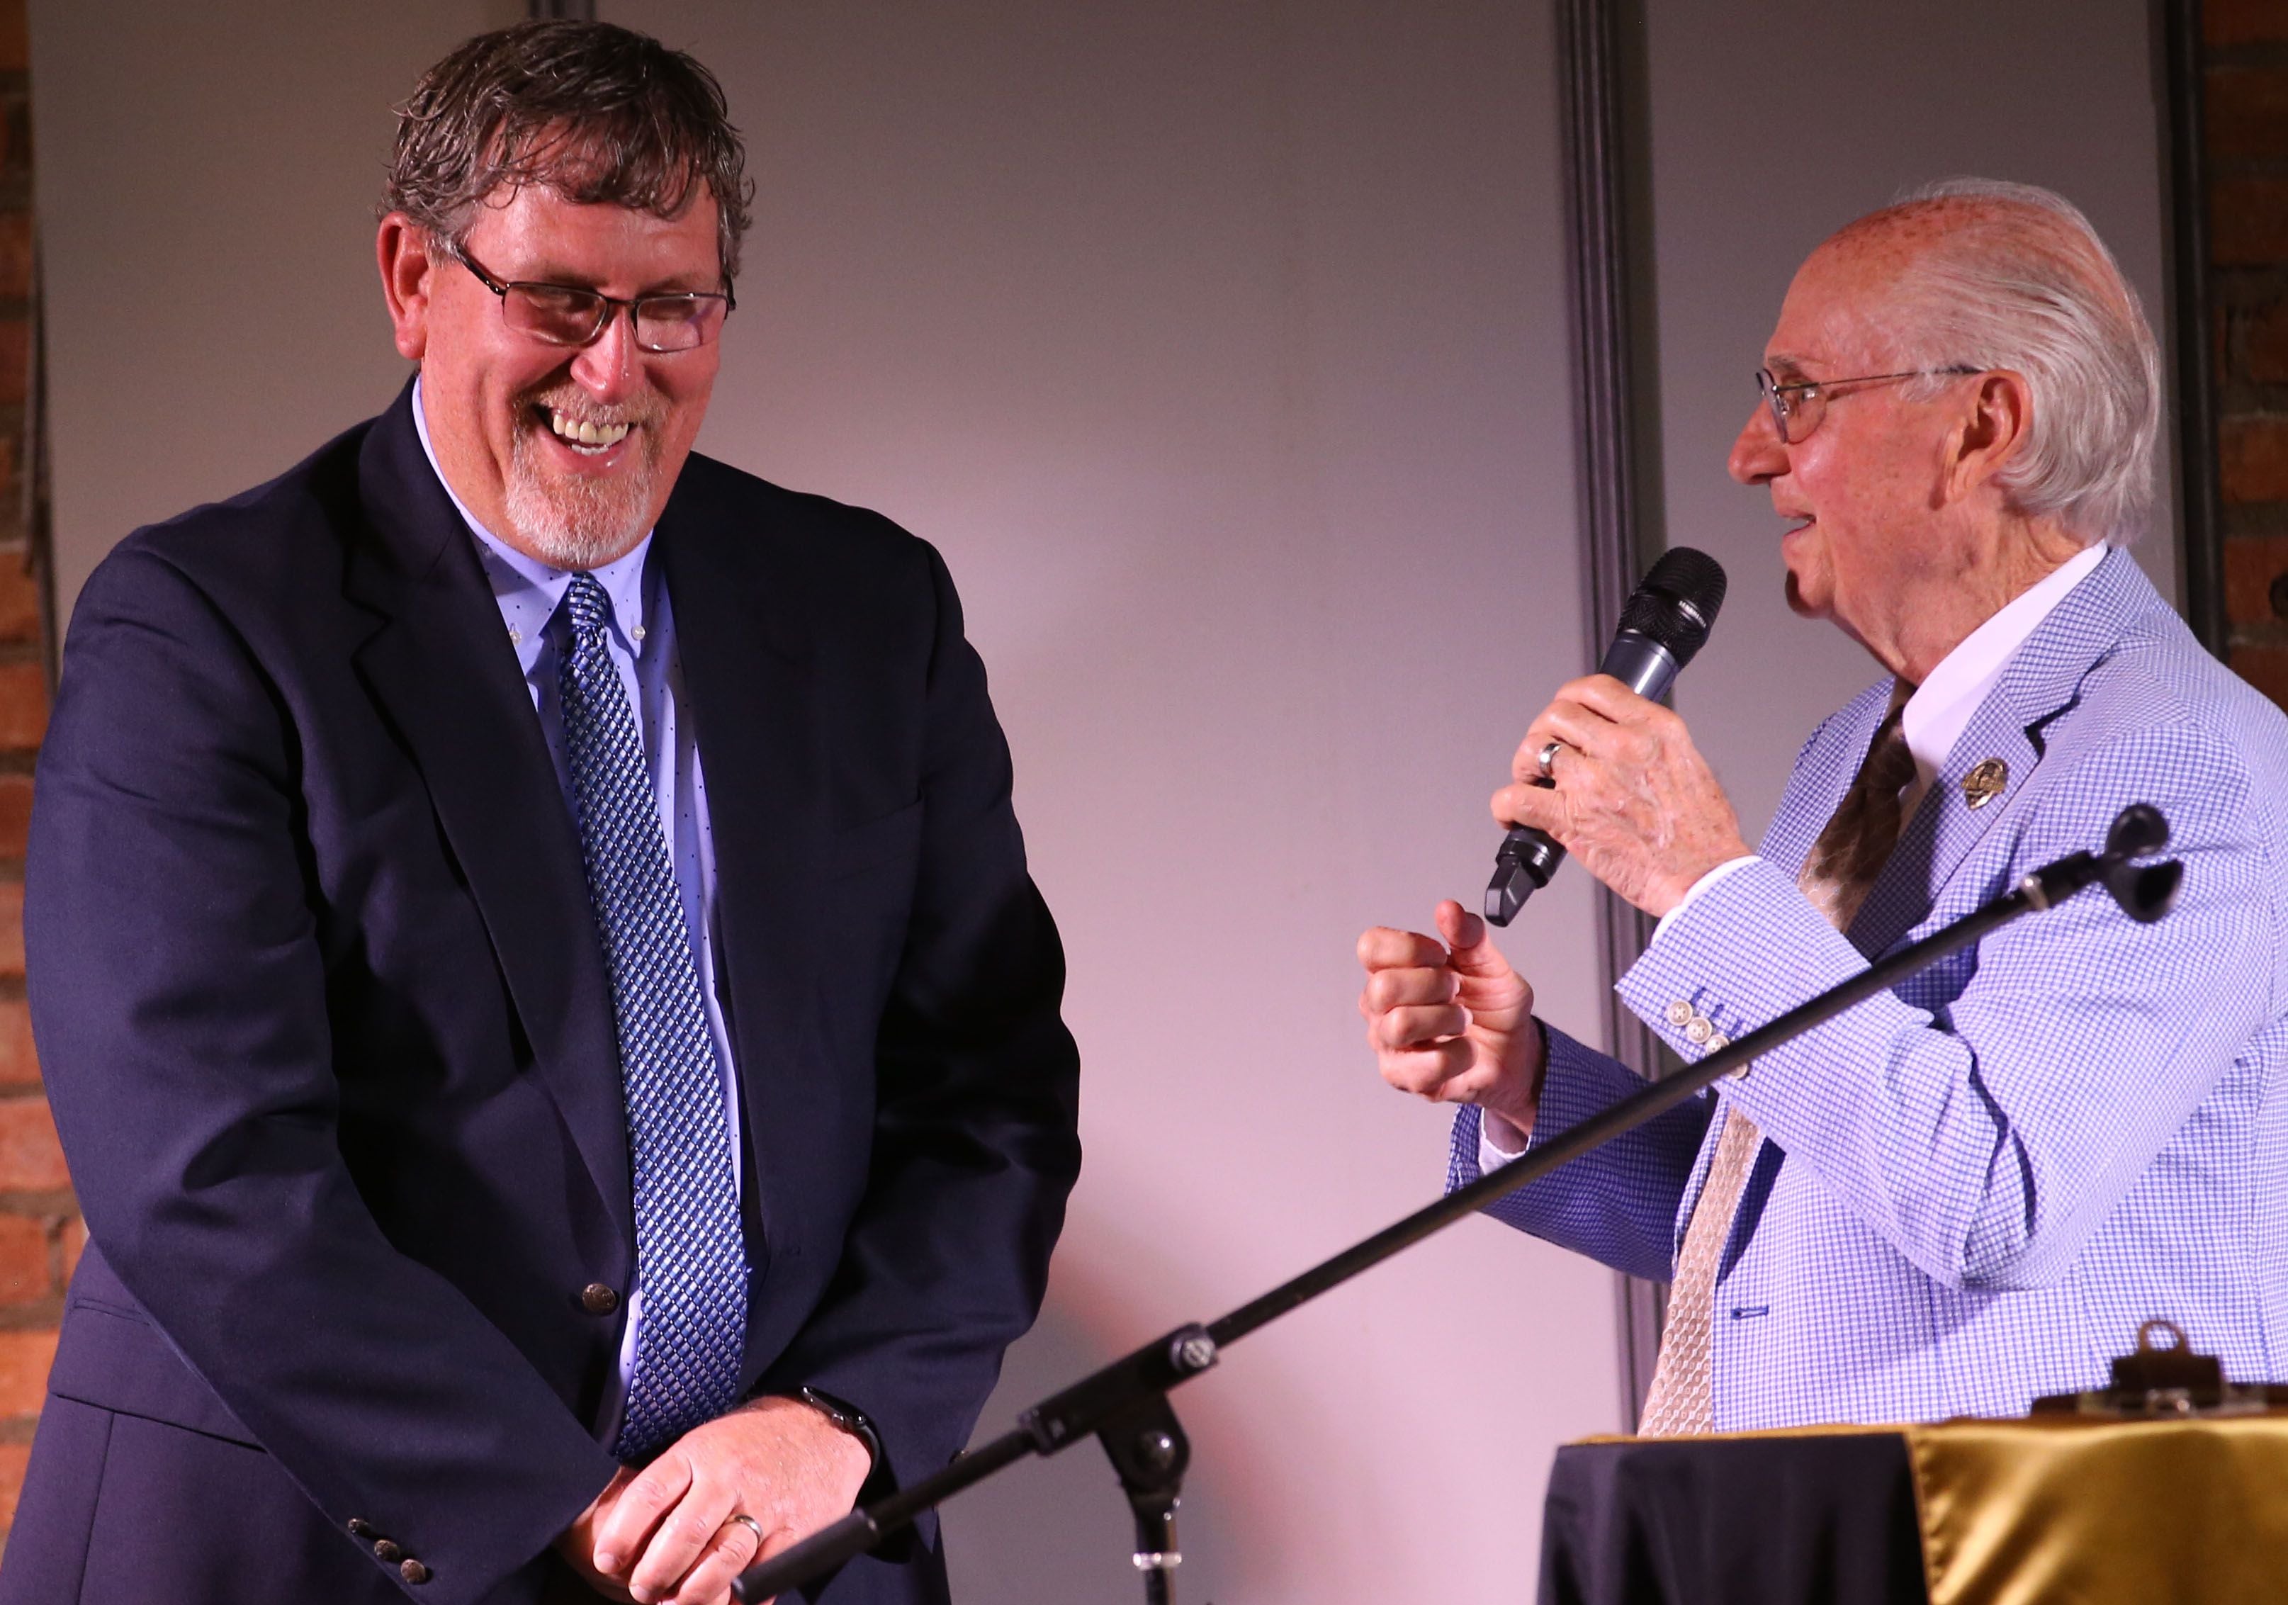
<svg viewBox="0 0 2288 1605"><path fill-rule="evenodd" d="M32 343L32 149L25 0L0 0L0 1541L16 1513L55 1358L64 1280L85 1241L39 1090L23 1007L23 833L48 726L41 586L25 529Z"/></svg>

